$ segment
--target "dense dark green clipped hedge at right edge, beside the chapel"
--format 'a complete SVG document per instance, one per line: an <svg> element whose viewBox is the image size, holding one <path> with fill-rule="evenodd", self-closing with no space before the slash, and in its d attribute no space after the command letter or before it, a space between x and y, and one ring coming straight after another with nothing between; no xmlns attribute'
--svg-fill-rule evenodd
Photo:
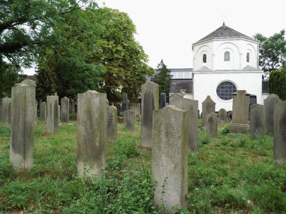
<svg viewBox="0 0 286 214"><path fill-rule="evenodd" d="M286 67L270 72L269 92L277 94L282 100L286 100Z"/></svg>

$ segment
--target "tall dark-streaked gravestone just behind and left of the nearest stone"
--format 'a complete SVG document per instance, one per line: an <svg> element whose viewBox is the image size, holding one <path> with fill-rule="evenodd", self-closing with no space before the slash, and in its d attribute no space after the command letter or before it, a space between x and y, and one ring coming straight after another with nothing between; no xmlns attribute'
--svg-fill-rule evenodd
<svg viewBox="0 0 286 214"><path fill-rule="evenodd" d="M142 84L141 94L141 145L152 147L152 112L159 109L159 84L154 82Z"/></svg>

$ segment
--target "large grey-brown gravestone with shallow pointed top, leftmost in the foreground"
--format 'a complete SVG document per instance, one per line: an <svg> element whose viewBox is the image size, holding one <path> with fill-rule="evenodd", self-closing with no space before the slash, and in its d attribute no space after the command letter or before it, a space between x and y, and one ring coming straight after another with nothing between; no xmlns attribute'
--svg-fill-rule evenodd
<svg viewBox="0 0 286 214"><path fill-rule="evenodd" d="M14 168L32 168L36 88L25 83L12 87L10 161Z"/></svg>

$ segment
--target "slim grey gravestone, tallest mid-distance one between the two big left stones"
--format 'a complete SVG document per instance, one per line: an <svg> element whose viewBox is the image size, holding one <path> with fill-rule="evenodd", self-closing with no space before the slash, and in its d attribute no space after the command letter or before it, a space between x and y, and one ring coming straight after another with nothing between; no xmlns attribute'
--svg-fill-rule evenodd
<svg viewBox="0 0 286 214"><path fill-rule="evenodd" d="M47 96L47 133L58 131L59 125L59 96Z"/></svg>

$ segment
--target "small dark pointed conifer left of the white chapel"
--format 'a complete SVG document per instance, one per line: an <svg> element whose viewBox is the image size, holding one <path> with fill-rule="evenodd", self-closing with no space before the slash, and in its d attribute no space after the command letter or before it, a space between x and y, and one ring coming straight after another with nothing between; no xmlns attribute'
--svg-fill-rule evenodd
<svg viewBox="0 0 286 214"><path fill-rule="evenodd" d="M167 68L167 65L164 63L163 59L157 66L159 72L154 75L152 81L159 84L160 93L164 92L169 95L170 84L172 81L171 70Z"/></svg>

